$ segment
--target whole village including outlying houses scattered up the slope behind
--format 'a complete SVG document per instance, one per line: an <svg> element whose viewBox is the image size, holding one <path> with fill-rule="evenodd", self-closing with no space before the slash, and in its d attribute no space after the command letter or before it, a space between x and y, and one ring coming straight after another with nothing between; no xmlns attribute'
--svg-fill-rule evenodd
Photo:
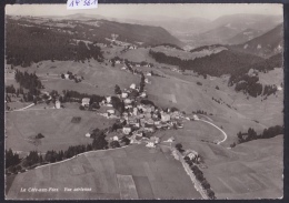
<svg viewBox="0 0 289 203"><path fill-rule="evenodd" d="M127 89L121 90L116 85L116 95L103 97L103 100L99 103L91 102L91 99L82 98L80 110L93 110L96 114L104 116L106 119L116 120L116 124L112 129L106 132L106 138L111 142L117 142L117 146L120 146L120 141L123 139L129 140L129 144L144 143L147 148L156 148L160 144L160 138L155 136L156 131L162 130L177 130L183 128L185 121L199 120L197 114L191 118L186 116L185 112L179 111L177 108L159 108L153 102L148 100L144 85L151 84L150 77L160 77L152 71L138 71L132 69L133 67L148 67L149 63L133 63L123 61L121 59L109 60L110 63L120 64L120 70L138 74L141 78L140 84L131 83ZM122 65L123 64L123 65ZM146 77L144 77L146 75ZM83 80L83 77L72 74L71 72L62 73L61 79L64 80ZM76 81L77 82L77 81ZM51 99L51 97L50 97ZM117 104L116 104L117 103ZM122 110L116 108L116 105L122 106ZM97 108L94 108L97 106ZM56 100L56 109L61 109L61 102ZM121 108L120 108L121 109ZM92 138L93 130L88 131L84 136ZM175 138L171 136L161 144L168 144L171 146ZM114 145L113 145L114 146ZM196 151L191 151L193 158L198 156Z"/></svg>

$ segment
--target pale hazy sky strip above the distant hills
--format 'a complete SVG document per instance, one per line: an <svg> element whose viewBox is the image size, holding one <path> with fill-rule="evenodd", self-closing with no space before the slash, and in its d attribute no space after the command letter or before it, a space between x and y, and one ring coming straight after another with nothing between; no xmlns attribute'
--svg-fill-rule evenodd
<svg viewBox="0 0 289 203"><path fill-rule="evenodd" d="M216 19L225 14L258 13L282 14L282 4L99 4L97 9L67 10L66 4L14 4L6 7L7 14L67 16L74 13L100 14L112 18L163 16L173 18L201 17Z"/></svg>

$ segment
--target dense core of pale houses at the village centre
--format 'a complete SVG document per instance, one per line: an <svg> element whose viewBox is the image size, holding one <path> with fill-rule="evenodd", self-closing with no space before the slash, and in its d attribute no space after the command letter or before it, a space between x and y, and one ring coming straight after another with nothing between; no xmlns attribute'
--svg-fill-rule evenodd
<svg viewBox="0 0 289 203"><path fill-rule="evenodd" d="M122 129L118 130L120 135L128 136L131 143L146 141L148 148L155 148L159 143L159 139L151 136L153 132L157 130L183 128L181 123L183 115L180 111L171 111L170 109L165 111L150 102L141 102L147 97L146 92L142 92L137 98L130 97L131 92L136 90L138 90L138 87L132 83L128 90L124 89L119 95L126 109L122 115L119 116L119 123L122 125ZM109 97L107 97L102 101L102 105L110 106L110 102ZM114 113L114 111L107 112L106 116L111 116Z"/></svg>

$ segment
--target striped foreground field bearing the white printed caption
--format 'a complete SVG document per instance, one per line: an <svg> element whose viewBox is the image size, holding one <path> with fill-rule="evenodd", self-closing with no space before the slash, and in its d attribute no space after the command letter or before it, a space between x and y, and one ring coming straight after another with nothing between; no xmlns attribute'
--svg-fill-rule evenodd
<svg viewBox="0 0 289 203"><path fill-rule="evenodd" d="M180 162L169 152L143 145L90 152L70 161L18 174L9 182L9 200L200 199ZM58 192L20 192L56 187ZM90 192L64 192L87 187Z"/></svg>

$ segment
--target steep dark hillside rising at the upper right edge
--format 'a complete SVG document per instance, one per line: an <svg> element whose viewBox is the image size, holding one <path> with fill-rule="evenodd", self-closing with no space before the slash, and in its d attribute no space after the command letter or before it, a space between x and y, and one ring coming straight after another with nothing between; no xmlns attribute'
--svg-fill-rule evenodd
<svg viewBox="0 0 289 203"><path fill-rule="evenodd" d="M273 54L280 53L283 49L283 26L279 24L275 29L265 34L255 38L248 42L239 45L233 45L232 49L269 58Z"/></svg>

